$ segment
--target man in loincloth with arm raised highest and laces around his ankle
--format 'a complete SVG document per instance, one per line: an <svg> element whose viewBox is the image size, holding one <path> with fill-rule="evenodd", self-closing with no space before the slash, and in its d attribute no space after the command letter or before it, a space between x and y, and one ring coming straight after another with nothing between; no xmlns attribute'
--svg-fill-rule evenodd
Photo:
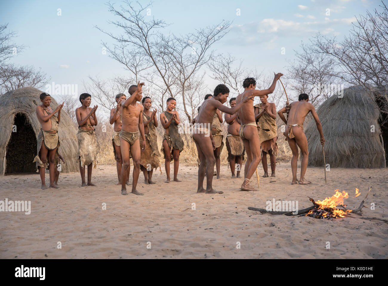
<svg viewBox="0 0 388 286"><path fill-rule="evenodd" d="M251 94L253 96L263 96L274 92L276 81L282 76L282 73L275 75L275 78L268 89L257 90L255 78L248 77L244 79L242 87L244 92L239 94L236 98L236 104L238 105L242 98ZM248 101L246 104L237 111L238 117L241 121L241 127L239 135L244 143L247 159L244 167L244 182L241 184L240 189L243 191L255 191L256 189L249 185L253 173L256 172L257 166L260 163L260 139L257 133L257 124L255 120L255 110L253 108L253 100Z"/></svg>

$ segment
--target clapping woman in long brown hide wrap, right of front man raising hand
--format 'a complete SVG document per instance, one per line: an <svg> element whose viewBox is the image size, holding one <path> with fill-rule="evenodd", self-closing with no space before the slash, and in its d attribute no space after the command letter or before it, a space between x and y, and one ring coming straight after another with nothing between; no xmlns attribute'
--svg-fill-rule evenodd
<svg viewBox="0 0 388 286"><path fill-rule="evenodd" d="M159 162L159 148L156 137L156 127L158 127L158 118L156 117L156 109L151 112L152 100L149 96L142 99L144 107L143 111L143 125L145 136L145 149L140 155L140 169L144 174L145 184L155 184L152 181L152 172L157 167L160 168ZM140 138L140 144L142 144L142 138Z"/></svg>

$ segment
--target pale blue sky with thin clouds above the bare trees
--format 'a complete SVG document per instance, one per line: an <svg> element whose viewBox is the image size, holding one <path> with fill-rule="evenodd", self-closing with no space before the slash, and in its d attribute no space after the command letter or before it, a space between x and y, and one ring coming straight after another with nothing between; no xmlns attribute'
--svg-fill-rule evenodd
<svg viewBox="0 0 388 286"><path fill-rule="evenodd" d="M22 65L40 67L55 84L78 84L98 75L109 78L125 75L119 63L102 54L101 41L109 38L94 26L114 31L107 1L2 1L0 19L17 31L17 44L27 45L12 59ZM115 2L116 6L121 3ZM140 1L142 4L148 1ZM196 28L233 21L230 32L213 45L219 53L244 59L247 68L284 72L286 59L301 41L320 31L342 38L352 28L355 16L378 9L377 0L300 1L155 1L152 16L171 26L165 32L189 33ZM57 9L61 16L57 16ZM240 9L241 15L236 15ZM326 16L330 9L330 16ZM284 47L286 54L281 54ZM285 75L286 76L286 75ZM145 82L147 80L145 79ZM206 77L210 91L217 82ZM270 84L270 83L268 83Z"/></svg>

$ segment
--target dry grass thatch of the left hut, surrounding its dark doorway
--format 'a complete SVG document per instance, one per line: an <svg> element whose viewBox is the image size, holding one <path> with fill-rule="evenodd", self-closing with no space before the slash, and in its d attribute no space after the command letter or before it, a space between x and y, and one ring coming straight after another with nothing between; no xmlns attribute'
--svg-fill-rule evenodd
<svg viewBox="0 0 388 286"><path fill-rule="evenodd" d="M6 171L6 154L7 146L12 134L12 126L17 114L23 114L28 119L33 131L35 132L35 144L38 133L40 132L40 123L36 117L36 106L40 105L39 95L42 91L33 87L23 87L14 91L7 92L0 96L0 175L4 175ZM51 97L51 108L55 110L58 103ZM26 122L28 125L28 122ZM61 147L59 153L63 156L66 164L62 167L62 172L74 172L78 170L76 163L78 153L77 130L73 125L69 115L62 110L61 122L59 124L59 140ZM25 142L26 145L33 142ZM36 155L36 145L33 157L31 154L20 154L20 158L24 162L31 162ZM19 164L20 158L15 158L15 164ZM35 165L35 163L33 163Z"/></svg>

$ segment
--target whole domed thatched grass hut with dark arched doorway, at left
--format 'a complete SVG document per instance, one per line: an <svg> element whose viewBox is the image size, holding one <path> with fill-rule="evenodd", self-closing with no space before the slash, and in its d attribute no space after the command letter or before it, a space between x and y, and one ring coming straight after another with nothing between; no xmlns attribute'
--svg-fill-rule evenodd
<svg viewBox="0 0 388 286"><path fill-rule="evenodd" d="M33 159L40 123L35 110L41 104L41 93L33 87L23 87L0 96L0 175L36 171ZM55 110L58 103L51 99L51 108ZM65 160L62 172L77 171L76 128L64 110L58 132L61 142L59 153Z"/></svg>

